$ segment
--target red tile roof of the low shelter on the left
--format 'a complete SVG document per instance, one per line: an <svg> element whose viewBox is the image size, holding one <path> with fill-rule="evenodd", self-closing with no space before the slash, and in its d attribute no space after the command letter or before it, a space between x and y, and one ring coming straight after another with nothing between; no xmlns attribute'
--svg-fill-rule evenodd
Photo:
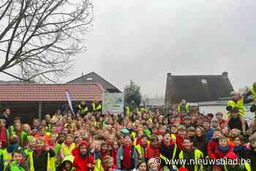
<svg viewBox="0 0 256 171"><path fill-rule="evenodd" d="M98 83L81 84L0 84L0 102L56 102L71 100L102 100L104 88Z"/></svg>

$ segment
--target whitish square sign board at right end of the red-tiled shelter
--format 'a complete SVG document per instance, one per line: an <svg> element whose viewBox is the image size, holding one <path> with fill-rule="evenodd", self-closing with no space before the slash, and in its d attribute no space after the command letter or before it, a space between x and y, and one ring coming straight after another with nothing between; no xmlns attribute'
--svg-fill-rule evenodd
<svg viewBox="0 0 256 171"><path fill-rule="evenodd" d="M105 112L109 112L110 114L124 113L124 94L103 94L102 113L104 114Z"/></svg>

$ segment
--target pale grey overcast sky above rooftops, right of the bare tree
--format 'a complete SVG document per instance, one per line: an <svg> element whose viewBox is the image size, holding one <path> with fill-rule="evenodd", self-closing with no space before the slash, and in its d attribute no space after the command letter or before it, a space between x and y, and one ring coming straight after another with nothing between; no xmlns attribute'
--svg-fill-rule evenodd
<svg viewBox="0 0 256 171"><path fill-rule="evenodd" d="M256 64L256 1L93 0L94 26L65 81L97 72L121 90L132 79L143 94L165 94L173 75L229 72L250 86Z"/></svg>

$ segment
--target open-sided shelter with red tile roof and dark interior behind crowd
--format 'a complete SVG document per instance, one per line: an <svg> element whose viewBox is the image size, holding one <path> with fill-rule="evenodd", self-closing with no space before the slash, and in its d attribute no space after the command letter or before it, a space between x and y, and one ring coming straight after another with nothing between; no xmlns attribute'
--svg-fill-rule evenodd
<svg viewBox="0 0 256 171"><path fill-rule="evenodd" d="M72 102L80 100L102 101L105 89L98 83L77 84L0 84L0 112L6 108L12 111L12 117L19 116L25 123L33 118L44 118L45 114L54 114L67 102L69 91Z"/></svg>

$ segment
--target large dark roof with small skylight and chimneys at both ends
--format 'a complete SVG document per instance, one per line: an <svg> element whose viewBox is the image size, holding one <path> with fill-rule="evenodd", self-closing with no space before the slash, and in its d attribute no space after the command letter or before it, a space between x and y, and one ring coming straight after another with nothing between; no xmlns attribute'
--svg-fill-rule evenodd
<svg viewBox="0 0 256 171"><path fill-rule="evenodd" d="M222 75L171 75L167 74L165 104L181 102L209 102L230 96L234 91L227 72Z"/></svg>

